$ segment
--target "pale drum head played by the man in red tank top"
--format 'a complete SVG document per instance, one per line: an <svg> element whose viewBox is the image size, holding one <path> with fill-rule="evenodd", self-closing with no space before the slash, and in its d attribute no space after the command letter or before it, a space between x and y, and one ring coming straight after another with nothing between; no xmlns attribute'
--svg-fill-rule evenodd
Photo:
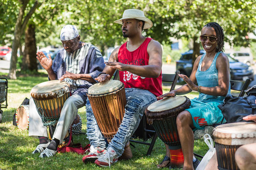
<svg viewBox="0 0 256 170"><path fill-rule="evenodd" d="M109 80L106 82L99 82L88 88L89 95L102 95L117 91L122 88L123 83L119 80Z"/></svg>

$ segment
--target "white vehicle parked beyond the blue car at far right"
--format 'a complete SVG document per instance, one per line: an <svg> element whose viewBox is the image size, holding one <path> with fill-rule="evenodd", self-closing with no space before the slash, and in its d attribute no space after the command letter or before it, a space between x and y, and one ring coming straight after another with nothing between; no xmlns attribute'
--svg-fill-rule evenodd
<svg viewBox="0 0 256 170"><path fill-rule="evenodd" d="M253 65L253 56L248 52L234 51L231 52L230 57L237 59L239 62L243 62L247 65Z"/></svg>

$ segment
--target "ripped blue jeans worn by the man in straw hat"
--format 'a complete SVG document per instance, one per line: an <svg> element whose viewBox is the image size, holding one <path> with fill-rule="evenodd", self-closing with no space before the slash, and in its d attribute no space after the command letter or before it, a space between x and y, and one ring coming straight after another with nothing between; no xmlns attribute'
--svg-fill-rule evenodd
<svg viewBox="0 0 256 170"><path fill-rule="evenodd" d="M156 96L147 90L138 88L125 88L126 105L125 105L125 116L122 119L122 123L116 135L113 137L109 146L112 147L117 156L121 156L124 152L126 142L130 139L132 134L135 132L140 124L145 108L151 103L157 101ZM86 104L86 116L87 116L87 138L94 147L103 146L104 142L102 139L102 133L96 123L96 119L93 116L93 111L90 106L90 102L87 99ZM106 144L106 143L105 143Z"/></svg>

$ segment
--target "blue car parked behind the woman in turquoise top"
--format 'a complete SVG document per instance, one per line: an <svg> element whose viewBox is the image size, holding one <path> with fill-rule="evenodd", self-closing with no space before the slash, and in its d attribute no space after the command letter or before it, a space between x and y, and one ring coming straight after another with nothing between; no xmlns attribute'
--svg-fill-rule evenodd
<svg viewBox="0 0 256 170"><path fill-rule="evenodd" d="M176 70L179 70L180 74L185 74L188 77L190 76L193 68L192 53L192 50L187 51L186 53L181 54L180 59L176 61ZM204 50L201 50L200 54L204 54ZM230 62L230 79L245 81L249 78L253 80L253 69L250 66L242 62L238 62L229 55L227 56ZM179 81L182 81L182 79L179 79Z"/></svg>

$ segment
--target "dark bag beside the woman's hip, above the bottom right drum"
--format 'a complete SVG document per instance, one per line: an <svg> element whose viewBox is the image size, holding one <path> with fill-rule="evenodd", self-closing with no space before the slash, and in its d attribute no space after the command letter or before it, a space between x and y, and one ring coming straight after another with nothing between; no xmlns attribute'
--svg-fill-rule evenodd
<svg viewBox="0 0 256 170"><path fill-rule="evenodd" d="M218 105L221 112L226 119L227 123L233 122L253 122L252 120L243 120L244 116L250 114L256 114L256 96L246 96L246 97L235 97L232 95L227 95L224 99L224 103Z"/></svg>

